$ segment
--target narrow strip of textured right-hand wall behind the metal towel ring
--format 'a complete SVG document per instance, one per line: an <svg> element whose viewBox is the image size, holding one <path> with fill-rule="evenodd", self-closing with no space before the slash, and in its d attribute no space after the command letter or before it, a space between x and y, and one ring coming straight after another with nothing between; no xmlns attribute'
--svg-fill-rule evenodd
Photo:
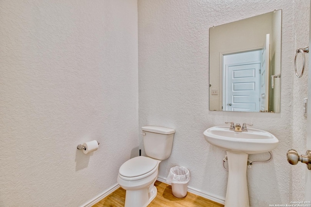
<svg viewBox="0 0 311 207"><path fill-rule="evenodd" d="M294 1L294 48L303 48L309 45L309 13L310 2L308 1ZM309 15L307 15L309 14ZM292 51L291 56L295 56L295 49ZM293 140L292 148L295 149L300 155L305 155L306 136L307 136L307 118L303 114L303 99L308 97L308 71L309 68L309 55L306 54L306 68L303 77L297 78L294 75L293 87ZM302 56L297 56L297 70L301 72ZM292 69L292 68L291 68ZM309 104L310 104L309 100ZM310 118L310 117L309 117ZM304 164L292 166L292 200L299 198L304 200L304 193L302 189L305 187L306 166Z"/></svg>

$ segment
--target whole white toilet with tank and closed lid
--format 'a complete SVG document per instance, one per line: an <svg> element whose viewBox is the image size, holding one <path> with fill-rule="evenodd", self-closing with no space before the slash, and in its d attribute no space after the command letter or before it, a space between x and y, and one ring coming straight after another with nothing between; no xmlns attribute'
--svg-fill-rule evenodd
<svg viewBox="0 0 311 207"><path fill-rule="evenodd" d="M124 162L117 181L126 190L124 207L147 207L155 198L159 163L171 156L175 130L166 127L142 128L145 153Z"/></svg>

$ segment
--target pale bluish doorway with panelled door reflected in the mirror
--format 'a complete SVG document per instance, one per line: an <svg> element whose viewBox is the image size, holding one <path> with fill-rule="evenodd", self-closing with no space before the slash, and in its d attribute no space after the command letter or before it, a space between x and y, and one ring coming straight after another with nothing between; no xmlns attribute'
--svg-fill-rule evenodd
<svg viewBox="0 0 311 207"><path fill-rule="evenodd" d="M261 49L224 55L225 111L259 111Z"/></svg>

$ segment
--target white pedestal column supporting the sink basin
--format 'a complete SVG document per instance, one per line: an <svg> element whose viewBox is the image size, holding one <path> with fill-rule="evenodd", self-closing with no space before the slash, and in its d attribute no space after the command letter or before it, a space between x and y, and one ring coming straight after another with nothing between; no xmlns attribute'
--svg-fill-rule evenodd
<svg viewBox="0 0 311 207"><path fill-rule="evenodd" d="M229 175L225 207L249 207L247 190L247 159L248 154L227 151Z"/></svg>

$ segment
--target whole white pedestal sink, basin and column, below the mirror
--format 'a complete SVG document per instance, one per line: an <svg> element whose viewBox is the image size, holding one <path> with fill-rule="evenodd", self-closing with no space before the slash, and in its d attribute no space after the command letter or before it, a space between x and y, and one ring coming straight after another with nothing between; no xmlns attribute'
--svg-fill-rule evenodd
<svg viewBox="0 0 311 207"><path fill-rule="evenodd" d="M204 131L208 143L227 152L229 175L225 207L249 207L246 179L248 155L269 152L278 144L278 139L267 131L247 129L247 132L236 132L229 130L228 126L216 126Z"/></svg>

